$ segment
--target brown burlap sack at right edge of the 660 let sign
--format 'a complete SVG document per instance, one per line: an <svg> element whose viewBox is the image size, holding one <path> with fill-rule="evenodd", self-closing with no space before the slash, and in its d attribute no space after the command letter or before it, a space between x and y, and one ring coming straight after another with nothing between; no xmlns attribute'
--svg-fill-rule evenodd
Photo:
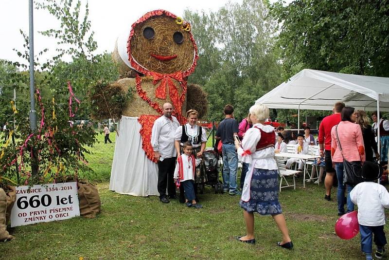
<svg viewBox="0 0 389 260"><path fill-rule="evenodd" d="M78 201L81 216L95 218L100 212L101 201L99 191L88 180L78 181Z"/></svg>

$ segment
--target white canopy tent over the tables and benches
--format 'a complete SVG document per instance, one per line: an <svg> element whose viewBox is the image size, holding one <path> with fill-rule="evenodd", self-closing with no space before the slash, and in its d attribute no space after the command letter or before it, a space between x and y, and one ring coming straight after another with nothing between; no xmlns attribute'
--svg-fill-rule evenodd
<svg viewBox="0 0 389 260"><path fill-rule="evenodd" d="M389 78L304 69L255 103L297 109L300 129L301 109L332 110L338 101L355 109L377 110L380 118L380 111L389 111Z"/></svg>

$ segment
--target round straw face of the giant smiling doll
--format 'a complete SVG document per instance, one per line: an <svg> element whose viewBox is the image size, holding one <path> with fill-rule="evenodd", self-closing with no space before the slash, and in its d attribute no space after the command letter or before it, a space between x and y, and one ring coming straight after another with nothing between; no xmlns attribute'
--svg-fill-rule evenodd
<svg viewBox="0 0 389 260"><path fill-rule="evenodd" d="M145 28L152 28L155 36L147 39L143 36ZM137 63L148 71L171 74L190 69L195 59L195 47L191 41L190 31L183 29L175 18L161 15L154 16L138 23L133 28L134 35L130 39L131 55ZM182 43L174 41L174 34L181 33ZM171 60L161 61L153 57L176 56Z"/></svg>

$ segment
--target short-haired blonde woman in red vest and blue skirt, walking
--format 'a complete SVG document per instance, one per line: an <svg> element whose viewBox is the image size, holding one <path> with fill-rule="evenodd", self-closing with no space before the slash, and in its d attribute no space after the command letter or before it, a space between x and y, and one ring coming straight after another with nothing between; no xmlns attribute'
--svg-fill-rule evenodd
<svg viewBox="0 0 389 260"><path fill-rule="evenodd" d="M250 108L253 127L247 130L240 146L235 141L238 155L248 163L249 169L243 186L241 207L246 222L247 235L237 237L241 242L255 243L254 212L261 215L271 215L280 229L283 239L277 245L292 249L293 243L289 237L286 222L278 201L278 169L274 159L274 128L265 125L269 109L263 104Z"/></svg>

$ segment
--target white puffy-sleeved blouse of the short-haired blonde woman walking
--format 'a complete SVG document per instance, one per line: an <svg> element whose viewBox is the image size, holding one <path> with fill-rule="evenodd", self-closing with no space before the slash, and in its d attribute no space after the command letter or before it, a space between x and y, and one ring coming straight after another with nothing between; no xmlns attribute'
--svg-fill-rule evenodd
<svg viewBox="0 0 389 260"><path fill-rule="evenodd" d="M245 138L242 140L242 146L238 149L238 155L241 156L242 162L244 163L251 164L255 161L254 168L275 170L277 169L277 163L274 159L274 147L256 151L256 146L261 139L261 131L255 127L267 133L274 132L274 127L272 126L262 125L260 123L254 124L252 128L246 131ZM251 154L245 152L247 150Z"/></svg>

